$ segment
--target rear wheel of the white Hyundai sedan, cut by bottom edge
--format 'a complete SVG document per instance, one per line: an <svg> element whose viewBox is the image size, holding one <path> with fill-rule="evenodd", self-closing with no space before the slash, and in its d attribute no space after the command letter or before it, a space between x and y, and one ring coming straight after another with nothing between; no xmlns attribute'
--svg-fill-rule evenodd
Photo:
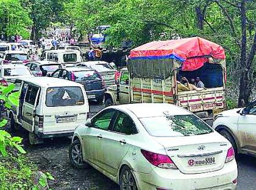
<svg viewBox="0 0 256 190"><path fill-rule="evenodd" d="M135 178L133 177L132 172L130 171L130 168L128 166L124 166L121 169L120 175L119 175L119 186L120 190L137 190L137 183Z"/></svg>

